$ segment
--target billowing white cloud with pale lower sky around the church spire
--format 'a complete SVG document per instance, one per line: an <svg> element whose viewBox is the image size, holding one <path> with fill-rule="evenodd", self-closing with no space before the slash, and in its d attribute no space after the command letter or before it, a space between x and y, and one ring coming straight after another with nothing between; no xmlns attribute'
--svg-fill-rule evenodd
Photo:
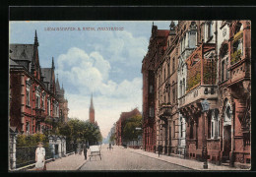
<svg viewBox="0 0 256 177"><path fill-rule="evenodd" d="M69 117L82 120L89 118L91 92L94 91L96 121L103 137L123 111L142 104L142 79L123 80L121 83L108 79L110 64L98 52L86 53L73 47L57 58L58 73L65 86L69 86L66 95L69 101ZM78 92L72 92L72 87ZM72 92L72 93L71 93Z"/></svg>

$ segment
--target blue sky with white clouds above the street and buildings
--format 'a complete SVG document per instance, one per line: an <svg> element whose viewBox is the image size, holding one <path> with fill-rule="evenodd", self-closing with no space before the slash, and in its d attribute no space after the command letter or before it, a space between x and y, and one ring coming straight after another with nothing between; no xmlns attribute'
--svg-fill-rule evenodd
<svg viewBox="0 0 256 177"><path fill-rule="evenodd" d="M93 93L96 122L105 138L121 112L136 107L142 111L141 67L152 24L153 21L10 22L9 38L10 43L33 43L36 29L40 67L50 68L54 58L55 75L68 99L69 117L88 120ZM169 29L169 24L170 21L154 22L158 29Z"/></svg>

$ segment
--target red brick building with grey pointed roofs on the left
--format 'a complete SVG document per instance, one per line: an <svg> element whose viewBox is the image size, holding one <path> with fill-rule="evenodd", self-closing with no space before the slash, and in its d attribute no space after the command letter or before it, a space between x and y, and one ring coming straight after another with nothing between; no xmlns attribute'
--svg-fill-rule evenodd
<svg viewBox="0 0 256 177"><path fill-rule="evenodd" d="M10 44L10 127L21 134L34 134L52 129L59 120L55 66L40 68L38 40L33 44Z"/></svg>

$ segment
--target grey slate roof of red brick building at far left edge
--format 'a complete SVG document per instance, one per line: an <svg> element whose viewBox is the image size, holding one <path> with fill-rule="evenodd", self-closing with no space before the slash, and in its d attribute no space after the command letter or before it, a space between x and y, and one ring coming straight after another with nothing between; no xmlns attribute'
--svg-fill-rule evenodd
<svg viewBox="0 0 256 177"><path fill-rule="evenodd" d="M9 56L13 60L32 61L33 44L10 44Z"/></svg>

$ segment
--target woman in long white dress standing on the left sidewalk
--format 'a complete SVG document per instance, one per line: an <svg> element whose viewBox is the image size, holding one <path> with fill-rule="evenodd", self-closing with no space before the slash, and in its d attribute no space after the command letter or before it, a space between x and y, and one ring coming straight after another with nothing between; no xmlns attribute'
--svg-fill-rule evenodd
<svg viewBox="0 0 256 177"><path fill-rule="evenodd" d="M45 148L42 148L42 143L37 143L35 149L35 170L46 170L45 166Z"/></svg>

